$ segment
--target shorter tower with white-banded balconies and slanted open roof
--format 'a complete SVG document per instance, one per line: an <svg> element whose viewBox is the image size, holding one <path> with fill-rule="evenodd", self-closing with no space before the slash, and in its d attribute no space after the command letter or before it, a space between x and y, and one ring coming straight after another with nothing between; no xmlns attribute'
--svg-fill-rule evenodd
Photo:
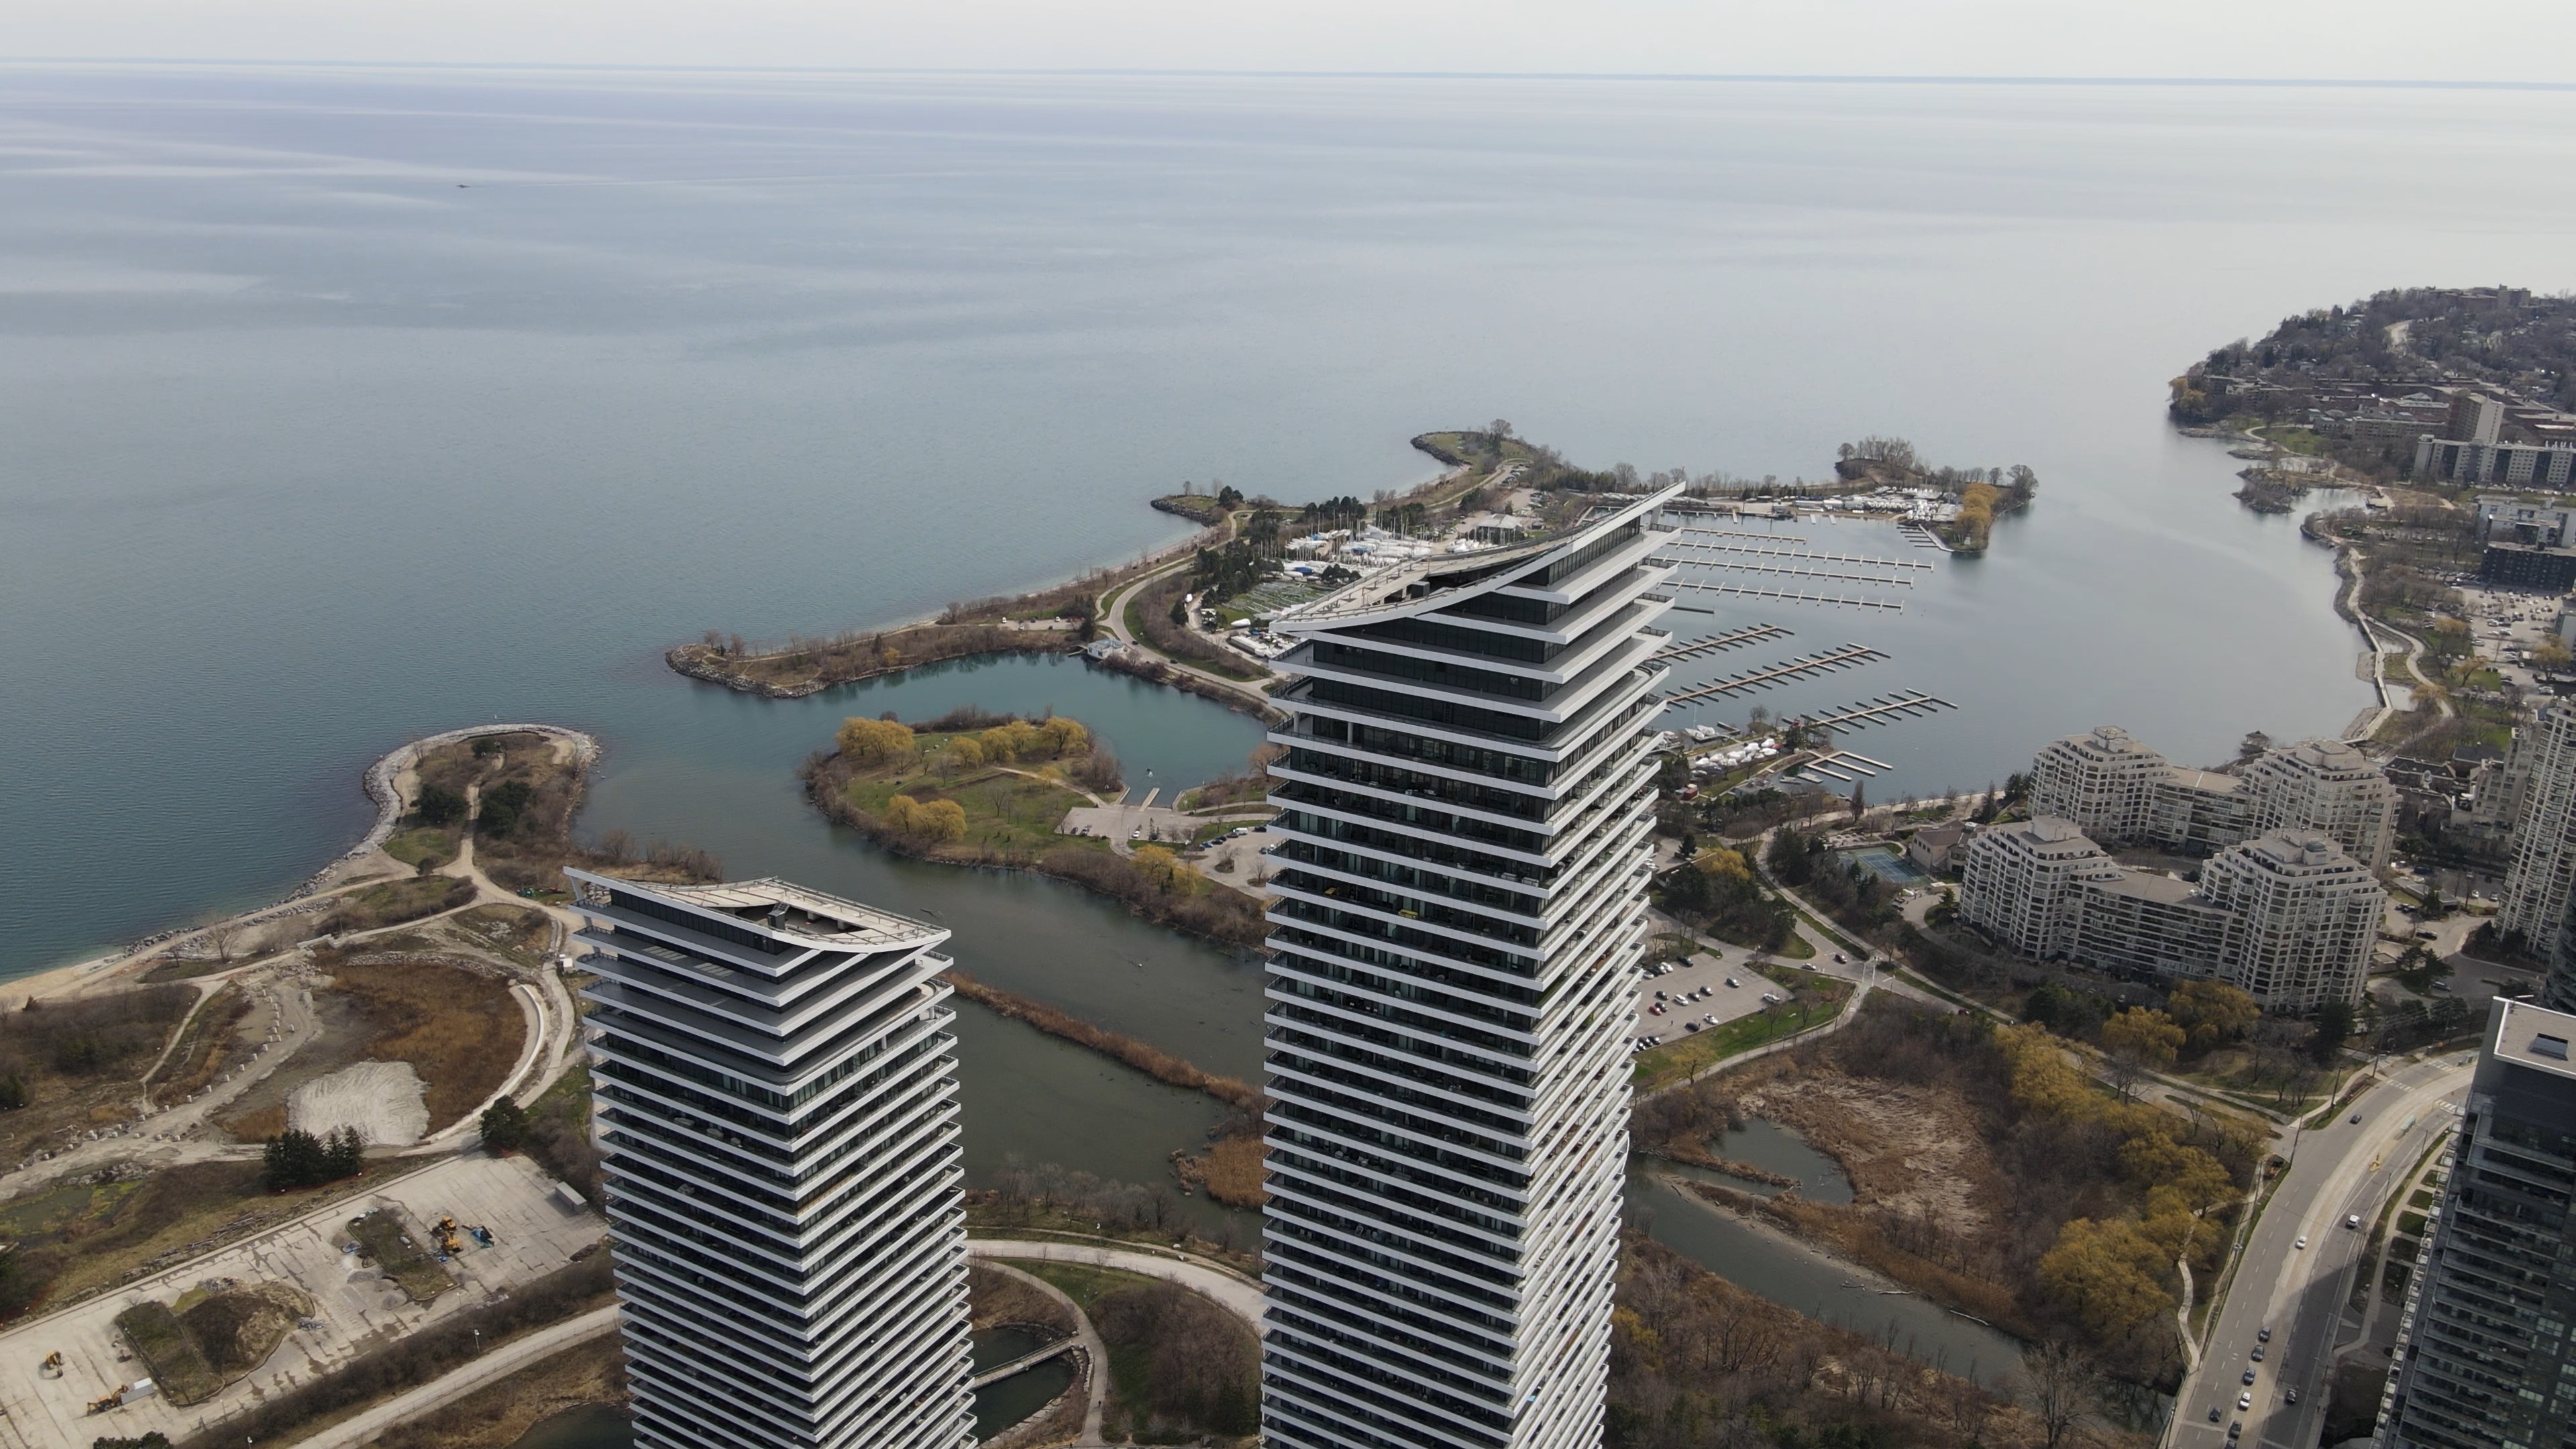
<svg viewBox="0 0 2576 1449"><path fill-rule="evenodd" d="M647 1449L966 1449L948 931L564 871Z"/></svg>

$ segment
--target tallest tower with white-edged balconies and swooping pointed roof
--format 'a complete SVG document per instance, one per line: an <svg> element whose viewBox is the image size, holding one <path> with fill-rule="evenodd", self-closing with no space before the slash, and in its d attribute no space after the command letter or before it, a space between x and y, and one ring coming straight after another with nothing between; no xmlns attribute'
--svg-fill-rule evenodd
<svg viewBox="0 0 2576 1449"><path fill-rule="evenodd" d="M1674 492L1275 624L1270 1449L1600 1446Z"/></svg>

